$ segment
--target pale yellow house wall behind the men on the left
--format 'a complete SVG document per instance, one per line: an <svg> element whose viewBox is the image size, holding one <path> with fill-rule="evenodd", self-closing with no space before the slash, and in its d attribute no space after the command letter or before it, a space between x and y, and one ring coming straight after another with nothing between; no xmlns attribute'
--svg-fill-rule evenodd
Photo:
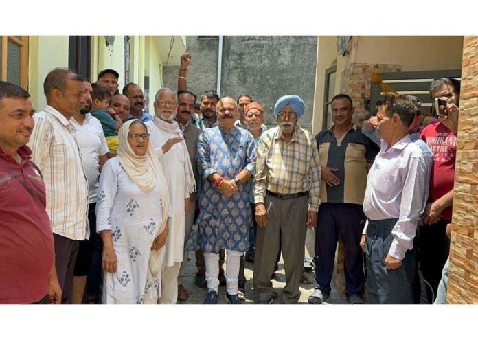
<svg viewBox="0 0 478 340"><path fill-rule="evenodd" d="M154 95L163 85L163 65L168 56L171 36L130 37L130 82L144 89L144 76L150 78L149 111L153 111ZM69 36L30 36L28 91L36 110L46 105L43 81L54 67L68 67ZM168 65L179 65L179 56L185 52L185 37L175 36L174 48ZM98 72L115 69L120 73L119 89L124 87L124 36L115 36L113 45L106 46L104 36L91 36L91 82Z"/></svg>

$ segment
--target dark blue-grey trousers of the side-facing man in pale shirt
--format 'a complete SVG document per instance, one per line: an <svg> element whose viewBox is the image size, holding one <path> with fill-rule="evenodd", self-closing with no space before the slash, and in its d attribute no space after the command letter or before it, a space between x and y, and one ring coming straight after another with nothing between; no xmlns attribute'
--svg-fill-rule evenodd
<svg viewBox="0 0 478 340"><path fill-rule="evenodd" d="M387 269L387 256L394 236L391 229L398 218L369 220L365 241L369 304L413 304L416 275L416 247L405 253L398 269ZM415 243L415 242L414 242Z"/></svg>

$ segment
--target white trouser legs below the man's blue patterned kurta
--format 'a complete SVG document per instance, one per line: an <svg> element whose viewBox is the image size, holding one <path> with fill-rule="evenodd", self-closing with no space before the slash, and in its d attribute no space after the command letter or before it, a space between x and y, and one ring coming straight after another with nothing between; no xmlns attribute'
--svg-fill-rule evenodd
<svg viewBox="0 0 478 340"><path fill-rule="evenodd" d="M240 256L243 253L226 249L226 284L229 295L238 294L238 276L240 267ZM219 289L219 254L204 253L204 262L206 266L207 289L218 291ZM164 275L164 274L163 274Z"/></svg>

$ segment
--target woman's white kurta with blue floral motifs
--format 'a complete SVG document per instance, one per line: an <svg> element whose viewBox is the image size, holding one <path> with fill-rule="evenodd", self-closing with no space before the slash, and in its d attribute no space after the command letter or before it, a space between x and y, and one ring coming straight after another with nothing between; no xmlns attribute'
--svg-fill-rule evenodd
<svg viewBox="0 0 478 340"><path fill-rule="evenodd" d="M153 190L142 192L117 157L104 164L96 226L98 232L111 229L117 271L103 272L103 304L142 304L161 296L161 271L153 277L148 265L150 256L164 257L165 247L151 251L163 218L160 190L157 181Z"/></svg>

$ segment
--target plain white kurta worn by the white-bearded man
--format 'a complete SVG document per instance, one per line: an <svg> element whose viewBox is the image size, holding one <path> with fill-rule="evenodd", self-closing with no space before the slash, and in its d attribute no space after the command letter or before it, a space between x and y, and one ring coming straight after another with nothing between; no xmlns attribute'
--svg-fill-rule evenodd
<svg viewBox="0 0 478 340"><path fill-rule="evenodd" d="M184 199L189 197L189 192L185 188L184 155L188 154L181 143L174 144L166 154L163 154L161 147L166 141L174 137L183 137L182 133L168 133L160 130L153 121L147 122L146 125L150 133L150 142L159 153L159 162L168 182L172 219L169 223L169 235L166 241L166 256L163 266L170 267L174 265L174 262L182 262L184 257Z"/></svg>

